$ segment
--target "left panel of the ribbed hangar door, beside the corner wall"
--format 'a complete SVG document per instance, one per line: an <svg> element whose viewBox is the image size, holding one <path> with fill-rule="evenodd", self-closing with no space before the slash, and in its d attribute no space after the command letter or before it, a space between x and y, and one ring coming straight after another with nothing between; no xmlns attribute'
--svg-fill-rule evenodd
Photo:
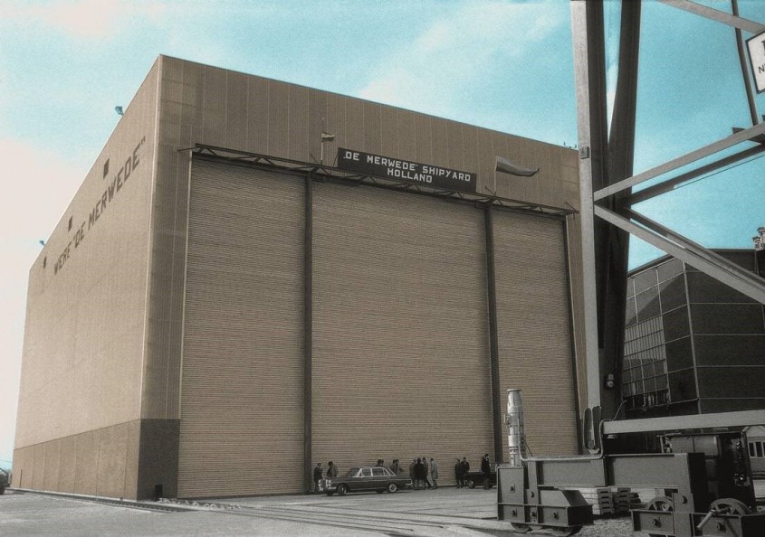
<svg viewBox="0 0 765 537"><path fill-rule="evenodd" d="M193 165L179 497L302 488L303 188Z"/></svg>

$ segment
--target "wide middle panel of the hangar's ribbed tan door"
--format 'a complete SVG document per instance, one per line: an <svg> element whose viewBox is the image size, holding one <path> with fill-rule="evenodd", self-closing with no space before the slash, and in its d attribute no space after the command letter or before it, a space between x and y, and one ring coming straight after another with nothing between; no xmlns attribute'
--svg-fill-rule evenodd
<svg viewBox="0 0 765 537"><path fill-rule="evenodd" d="M316 184L313 462L492 451L483 210Z"/></svg>

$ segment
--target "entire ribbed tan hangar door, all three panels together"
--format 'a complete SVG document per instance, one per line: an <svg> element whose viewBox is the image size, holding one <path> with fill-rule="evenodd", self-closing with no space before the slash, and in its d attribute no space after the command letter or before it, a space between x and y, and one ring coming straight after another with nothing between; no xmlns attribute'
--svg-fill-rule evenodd
<svg viewBox="0 0 765 537"><path fill-rule="evenodd" d="M493 452L483 206L312 189L311 462L477 463ZM305 201L299 176L192 162L181 497L303 488ZM524 390L535 452L574 454L563 221L492 221L502 392Z"/></svg>

